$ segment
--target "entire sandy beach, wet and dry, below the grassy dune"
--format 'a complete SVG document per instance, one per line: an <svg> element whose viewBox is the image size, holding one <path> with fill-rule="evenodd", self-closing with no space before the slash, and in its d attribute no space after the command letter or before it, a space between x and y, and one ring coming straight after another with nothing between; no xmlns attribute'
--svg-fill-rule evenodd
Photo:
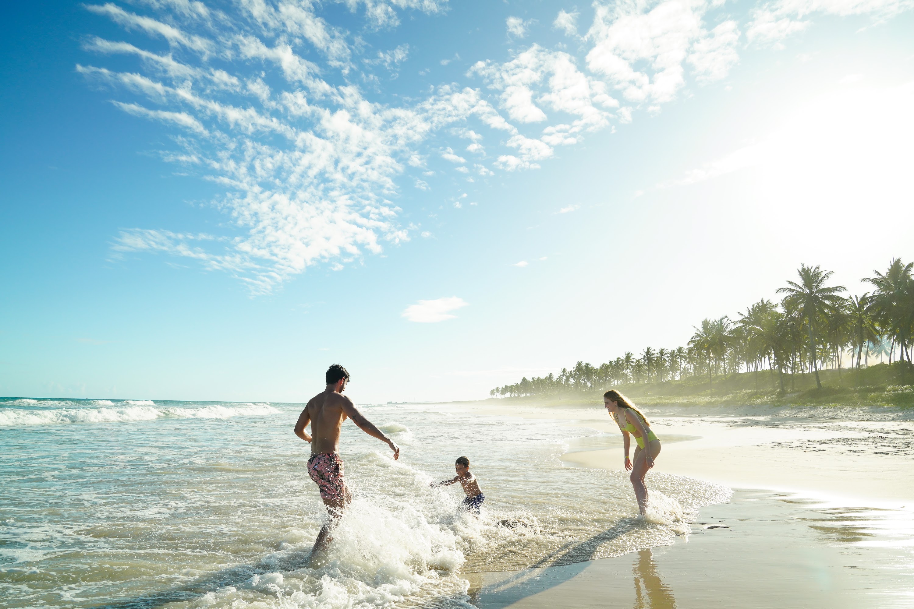
<svg viewBox="0 0 914 609"><path fill-rule="evenodd" d="M569 446L563 462L621 468L622 438L599 409L513 414L589 425L604 434ZM736 490L733 498L701 509L691 534L671 546L546 569L468 573L473 604L914 606L914 458L897 450L898 442L770 418L675 417L655 427L664 446L659 471L725 484Z"/></svg>

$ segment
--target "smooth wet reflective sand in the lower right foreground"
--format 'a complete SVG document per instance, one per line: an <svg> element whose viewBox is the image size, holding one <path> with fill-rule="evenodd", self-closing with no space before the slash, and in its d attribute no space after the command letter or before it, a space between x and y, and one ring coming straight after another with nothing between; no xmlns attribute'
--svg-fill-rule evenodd
<svg viewBox="0 0 914 609"><path fill-rule="evenodd" d="M728 526L706 528L712 524ZM480 609L907 607L914 577L905 549L892 546L909 528L907 512L738 489L727 503L702 508L688 538L671 545L462 578Z"/></svg>

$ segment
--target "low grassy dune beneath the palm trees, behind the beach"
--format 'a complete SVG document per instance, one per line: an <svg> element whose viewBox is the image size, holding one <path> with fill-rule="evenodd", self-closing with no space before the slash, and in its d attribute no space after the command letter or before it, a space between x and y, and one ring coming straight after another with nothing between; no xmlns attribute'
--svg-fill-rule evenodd
<svg viewBox="0 0 914 609"><path fill-rule="evenodd" d="M822 389L815 386L810 374L783 375L784 389L778 373L730 374L714 377L713 386L707 376L664 383L629 383L611 388L622 391L638 404L644 405L747 405L771 404L793 406L874 405L914 407L914 369L907 362L891 365L880 363L859 373L844 369L819 372ZM610 387L606 387L609 389ZM594 404L602 402L604 390L569 392L522 397L490 398L486 402L500 404L540 403Z"/></svg>

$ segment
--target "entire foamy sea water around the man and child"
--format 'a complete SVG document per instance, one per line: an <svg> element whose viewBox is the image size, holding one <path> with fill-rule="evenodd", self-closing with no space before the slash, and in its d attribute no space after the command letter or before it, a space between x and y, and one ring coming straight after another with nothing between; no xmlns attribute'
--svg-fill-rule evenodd
<svg viewBox="0 0 914 609"><path fill-rule="evenodd" d="M330 561L302 404L0 400L0 607L467 606L461 573L579 562L668 544L727 488L650 476L646 519L621 472L563 467L595 435L456 405L362 406L402 447L346 423L354 502ZM465 455L486 496L459 514ZM513 520L505 527L500 520ZM583 542L583 543L582 543Z"/></svg>

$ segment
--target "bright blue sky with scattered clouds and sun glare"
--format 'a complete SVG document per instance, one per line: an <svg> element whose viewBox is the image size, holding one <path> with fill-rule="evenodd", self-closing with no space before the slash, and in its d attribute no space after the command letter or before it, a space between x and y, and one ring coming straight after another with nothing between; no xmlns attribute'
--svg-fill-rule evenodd
<svg viewBox="0 0 914 609"><path fill-rule="evenodd" d="M5 6L0 394L479 399L914 259L914 0Z"/></svg>

